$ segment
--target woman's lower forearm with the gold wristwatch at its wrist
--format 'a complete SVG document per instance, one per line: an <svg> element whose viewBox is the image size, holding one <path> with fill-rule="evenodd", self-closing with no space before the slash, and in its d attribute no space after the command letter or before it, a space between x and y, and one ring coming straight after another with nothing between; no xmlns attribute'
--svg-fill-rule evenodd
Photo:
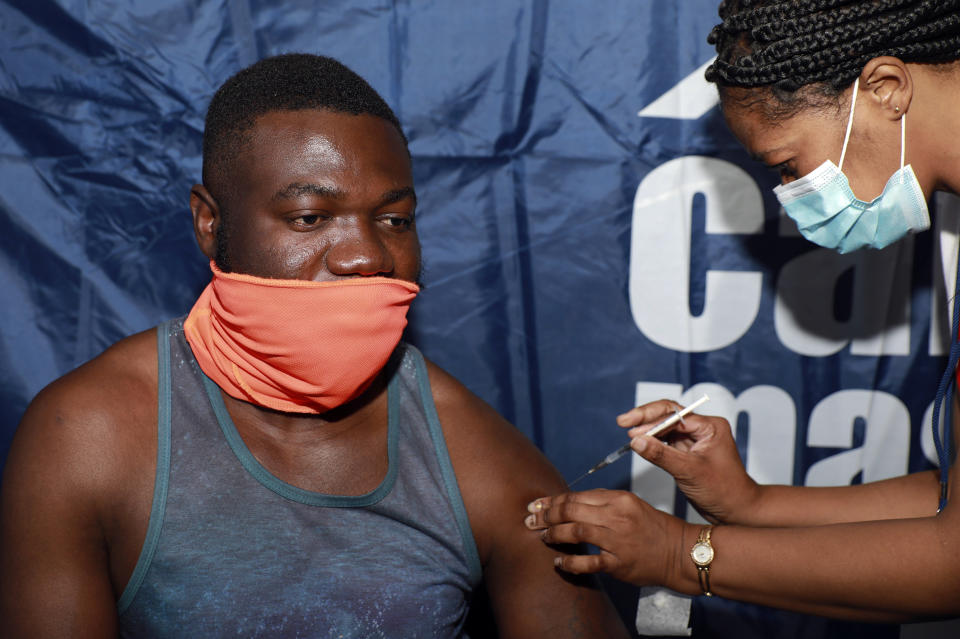
<svg viewBox="0 0 960 639"><path fill-rule="evenodd" d="M960 615L960 535L952 523L944 513L809 528L719 526L711 589L730 599L848 619ZM685 546L692 547L697 530L685 529ZM687 553L672 581L667 585L675 590L700 592Z"/></svg>

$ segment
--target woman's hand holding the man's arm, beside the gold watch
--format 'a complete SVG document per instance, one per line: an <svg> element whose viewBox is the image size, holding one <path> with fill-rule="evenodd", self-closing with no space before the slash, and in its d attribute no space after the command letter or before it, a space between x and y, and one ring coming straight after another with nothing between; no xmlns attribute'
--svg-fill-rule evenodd
<svg viewBox="0 0 960 639"><path fill-rule="evenodd" d="M554 559L557 568L574 574L606 572L638 586L674 584L682 549L693 545L693 539L684 537L688 524L622 490L542 497L527 510L524 523L542 530L545 543L588 543L600 549L599 554Z"/></svg>

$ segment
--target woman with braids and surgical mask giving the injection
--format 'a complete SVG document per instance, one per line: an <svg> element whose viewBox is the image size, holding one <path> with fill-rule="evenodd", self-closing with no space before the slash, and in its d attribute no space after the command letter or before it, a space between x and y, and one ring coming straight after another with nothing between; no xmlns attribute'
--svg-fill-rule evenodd
<svg viewBox="0 0 960 639"><path fill-rule="evenodd" d="M841 253L882 248L930 226L935 191L960 192L960 1L732 0L719 14L707 79L737 139L779 171L777 198L806 238ZM957 306L934 424L951 423L942 413L960 350ZM836 618L960 615L960 472L948 477L949 433L935 432L940 471L761 486L724 419L692 414L669 445L643 436L678 408L657 401L618 422L710 525L623 491L537 499L526 524L546 544L600 549L558 548L560 570Z"/></svg>

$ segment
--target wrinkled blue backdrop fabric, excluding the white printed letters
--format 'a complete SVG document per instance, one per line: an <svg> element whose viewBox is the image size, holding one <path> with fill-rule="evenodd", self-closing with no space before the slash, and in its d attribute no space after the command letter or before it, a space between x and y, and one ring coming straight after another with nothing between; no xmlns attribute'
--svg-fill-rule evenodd
<svg viewBox="0 0 960 639"><path fill-rule="evenodd" d="M814 406L841 389L882 389L909 410L910 468L928 467L918 433L944 361L927 351L939 268L931 234L914 247L909 356L784 348L773 323L779 273L817 249L781 235L769 195L755 235L710 234L702 197L691 204L691 314L707 303L711 271L763 274L741 340L673 351L631 316L631 216L645 176L708 156L741 166L765 194L773 186L717 108L637 115L714 55L716 4L0 1L0 459L43 386L190 308L209 277L187 207L206 104L255 60L306 51L363 75L410 139L426 289L407 339L565 477L623 443L613 416L633 405L639 381L785 389L798 415L796 441L784 443L797 449L798 483L838 452L806 446ZM838 282L837 313L856 316L856 281ZM593 485L629 486L627 462L604 472ZM636 591L611 590L632 624ZM723 600L694 606L701 637L895 633Z"/></svg>

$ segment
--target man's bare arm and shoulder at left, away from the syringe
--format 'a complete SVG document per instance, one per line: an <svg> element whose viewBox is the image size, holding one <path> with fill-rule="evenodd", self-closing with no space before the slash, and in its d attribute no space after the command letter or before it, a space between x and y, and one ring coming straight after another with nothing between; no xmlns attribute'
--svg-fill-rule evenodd
<svg viewBox="0 0 960 639"><path fill-rule="evenodd" d="M138 425L156 422L141 375L156 370L151 339L114 347L27 409L0 493L0 636L116 636L116 591L149 516L156 447Z"/></svg>

